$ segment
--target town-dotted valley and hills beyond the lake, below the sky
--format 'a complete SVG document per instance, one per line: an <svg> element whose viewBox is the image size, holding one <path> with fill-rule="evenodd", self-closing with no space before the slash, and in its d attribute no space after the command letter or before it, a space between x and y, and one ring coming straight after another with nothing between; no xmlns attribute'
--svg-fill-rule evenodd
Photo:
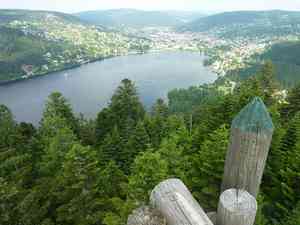
<svg viewBox="0 0 300 225"><path fill-rule="evenodd" d="M259 67L263 62L259 56L275 44L297 43L298 14L181 13L180 17L179 12L125 9L74 15L1 10L0 82L44 75L114 56L164 51L205 54L208 56L205 66L232 80L233 74L243 77L243 71L251 71L253 65ZM164 18L164 23L159 23L158 16Z"/></svg>

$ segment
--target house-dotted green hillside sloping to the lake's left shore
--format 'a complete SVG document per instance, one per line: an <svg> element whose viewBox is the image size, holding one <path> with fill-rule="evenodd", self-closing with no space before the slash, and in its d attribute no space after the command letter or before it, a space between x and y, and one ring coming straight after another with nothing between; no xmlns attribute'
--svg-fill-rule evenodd
<svg viewBox="0 0 300 225"><path fill-rule="evenodd" d="M0 82L149 48L146 39L47 11L0 10Z"/></svg>

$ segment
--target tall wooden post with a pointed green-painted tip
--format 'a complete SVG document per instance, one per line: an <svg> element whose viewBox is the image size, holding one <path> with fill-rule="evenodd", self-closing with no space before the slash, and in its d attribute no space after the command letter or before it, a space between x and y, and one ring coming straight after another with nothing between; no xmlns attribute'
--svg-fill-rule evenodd
<svg viewBox="0 0 300 225"><path fill-rule="evenodd" d="M236 188L257 196L273 131L272 119L256 97L232 122L222 191Z"/></svg>

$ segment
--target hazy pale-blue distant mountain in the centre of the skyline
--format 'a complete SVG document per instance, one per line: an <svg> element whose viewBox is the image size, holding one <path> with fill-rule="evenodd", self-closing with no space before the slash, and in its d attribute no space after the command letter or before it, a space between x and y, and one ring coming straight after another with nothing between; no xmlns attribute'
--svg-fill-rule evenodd
<svg viewBox="0 0 300 225"><path fill-rule="evenodd" d="M86 11L74 14L80 19L104 26L179 26L204 16L188 11L143 11L136 9L111 9Z"/></svg>

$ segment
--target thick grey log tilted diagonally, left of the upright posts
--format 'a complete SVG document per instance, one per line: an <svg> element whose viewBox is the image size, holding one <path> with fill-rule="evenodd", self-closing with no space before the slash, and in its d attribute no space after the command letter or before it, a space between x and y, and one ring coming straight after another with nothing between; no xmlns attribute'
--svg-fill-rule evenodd
<svg viewBox="0 0 300 225"><path fill-rule="evenodd" d="M150 203L168 225L213 225L181 180L169 179L157 185Z"/></svg>

